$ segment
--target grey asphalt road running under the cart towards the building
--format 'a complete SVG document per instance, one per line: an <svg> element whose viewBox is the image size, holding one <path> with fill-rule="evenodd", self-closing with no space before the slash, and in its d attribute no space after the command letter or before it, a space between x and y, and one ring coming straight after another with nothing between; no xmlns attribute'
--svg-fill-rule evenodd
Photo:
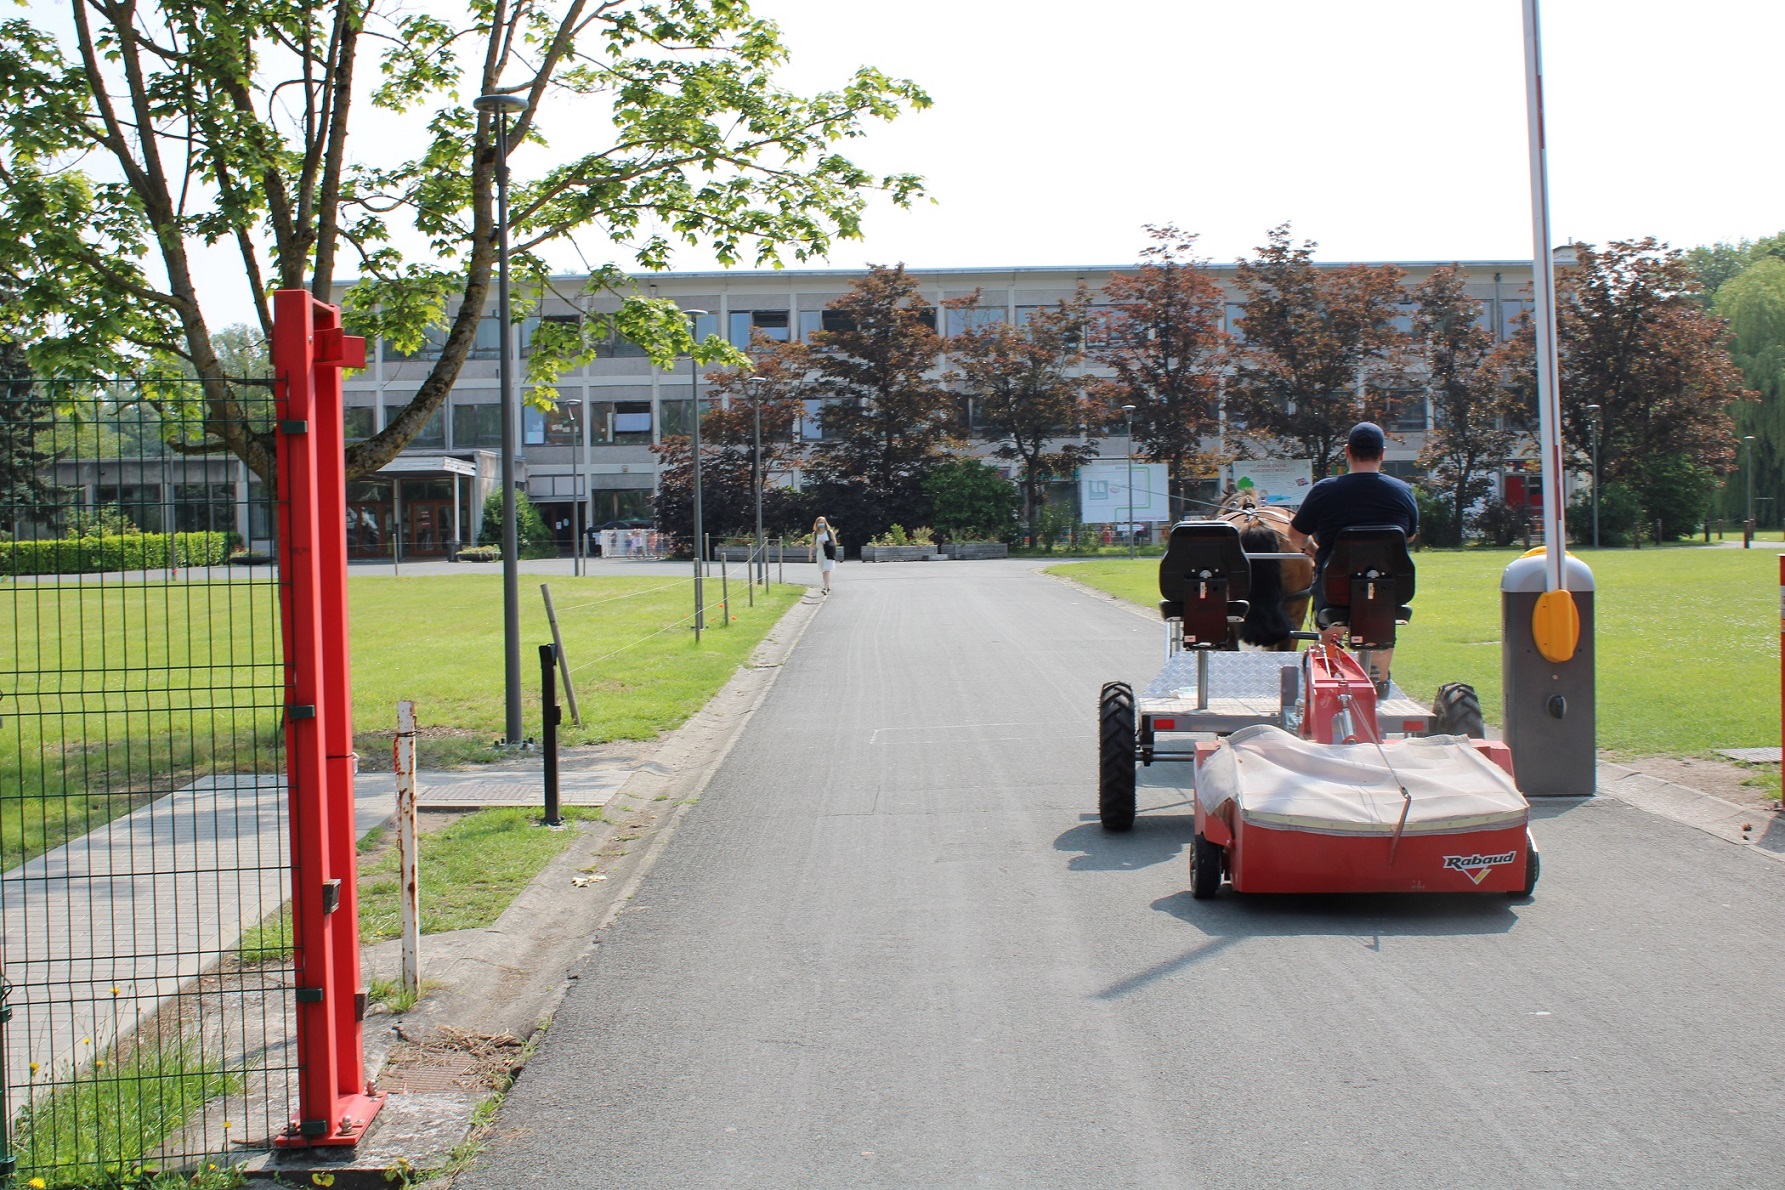
<svg viewBox="0 0 1785 1190"><path fill-rule="evenodd" d="M1160 633L846 566L469 1186L1785 1185L1785 867L1614 799L1533 903L1191 901L1092 803Z"/></svg>

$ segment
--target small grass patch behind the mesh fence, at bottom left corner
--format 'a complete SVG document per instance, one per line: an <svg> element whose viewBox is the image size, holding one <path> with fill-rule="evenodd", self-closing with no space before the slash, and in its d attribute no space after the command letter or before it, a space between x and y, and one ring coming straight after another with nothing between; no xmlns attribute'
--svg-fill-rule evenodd
<svg viewBox="0 0 1785 1190"><path fill-rule="evenodd" d="M154 1185L150 1176L136 1172L145 1154L205 1103L239 1088L236 1076L180 1044L139 1047L116 1063L100 1058L20 1110L12 1185L37 1185L36 1179L46 1186L130 1185L132 1178ZM214 1181L234 1185L230 1176Z"/></svg>

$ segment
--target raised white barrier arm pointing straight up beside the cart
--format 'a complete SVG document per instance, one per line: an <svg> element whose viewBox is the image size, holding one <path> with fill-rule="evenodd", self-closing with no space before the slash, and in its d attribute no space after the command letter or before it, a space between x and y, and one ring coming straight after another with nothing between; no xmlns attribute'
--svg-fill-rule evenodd
<svg viewBox="0 0 1785 1190"><path fill-rule="evenodd" d="M1544 485L1544 589L1565 591L1562 523L1562 394L1557 368L1557 275L1549 236L1549 164L1544 146L1544 55L1537 0L1524 4L1524 105L1532 143L1532 285L1537 326L1537 446Z"/></svg>

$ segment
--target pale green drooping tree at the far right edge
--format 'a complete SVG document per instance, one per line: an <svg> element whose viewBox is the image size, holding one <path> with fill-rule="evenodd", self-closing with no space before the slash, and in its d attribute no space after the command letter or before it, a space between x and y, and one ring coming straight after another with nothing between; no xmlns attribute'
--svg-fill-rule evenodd
<svg viewBox="0 0 1785 1190"><path fill-rule="evenodd" d="M1765 257L1724 282L1715 312L1730 325L1730 357L1760 394L1758 401L1731 410L1735 434L1755 435L1753 459L1737 457L1737 464L1753 466L1755 492L1778 501L1785 498L1778 483L1785 462L1785 259ZM1731 473L1724 489L1723 508L1737 519L1748 516L1746 478Z"/></svg>

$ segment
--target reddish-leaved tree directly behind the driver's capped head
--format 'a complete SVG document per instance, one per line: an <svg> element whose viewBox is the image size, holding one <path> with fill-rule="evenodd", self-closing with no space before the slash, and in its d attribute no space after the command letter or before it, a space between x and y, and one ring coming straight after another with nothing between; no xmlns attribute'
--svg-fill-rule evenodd
<svg viewBox="0 0 1785 1190"><path fill-rule="evenodd" d="M1266 446L1328 475L1358 419L1380 421L1403 378L1405 335L1394 328L1405 273L1392 264L1314 264L1314 241L1273 227L1233 284L1246 302L1226 382L1230 444Z"/></svg>

